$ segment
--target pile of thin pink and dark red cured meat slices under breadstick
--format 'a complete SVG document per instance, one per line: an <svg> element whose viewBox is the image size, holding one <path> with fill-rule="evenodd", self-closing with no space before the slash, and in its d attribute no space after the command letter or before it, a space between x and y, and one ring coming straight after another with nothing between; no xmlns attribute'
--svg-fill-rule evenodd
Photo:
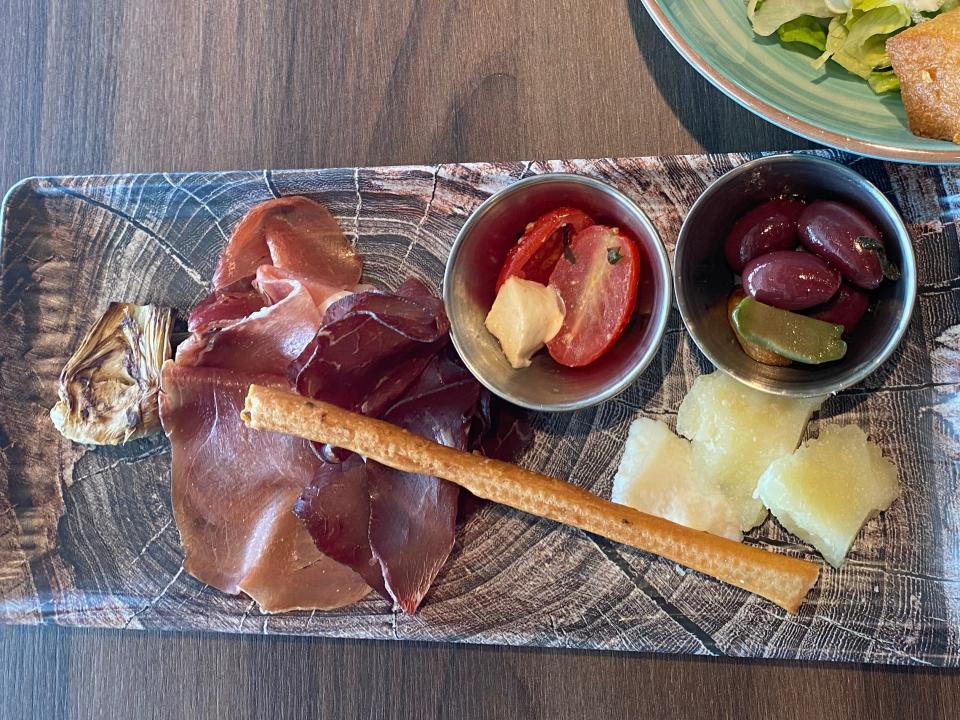
<svg viewBox="0 0 960 720"><path fill-rule="evenodd" d="M298 392L467 447L487 395L448 354L443 303L419 281L358 288L361 261L321 205L271 200L237 226L162 373L185 569L265 611L334 608L370 588L414 612L453 547L459 490L248 430L247 387Z"/></svg>

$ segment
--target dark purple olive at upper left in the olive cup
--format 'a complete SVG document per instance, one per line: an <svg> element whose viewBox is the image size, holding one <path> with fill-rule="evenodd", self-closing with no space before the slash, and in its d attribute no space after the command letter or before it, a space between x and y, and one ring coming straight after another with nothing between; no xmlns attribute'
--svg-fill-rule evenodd
<svg viewBox="0 0 960 720"><path fill-rule="evenodd" d="M797 246L797 218L806 207L799 200L771 200L758 205L733 224L723 251L730 268L739 273L755 257Z"/></svg>

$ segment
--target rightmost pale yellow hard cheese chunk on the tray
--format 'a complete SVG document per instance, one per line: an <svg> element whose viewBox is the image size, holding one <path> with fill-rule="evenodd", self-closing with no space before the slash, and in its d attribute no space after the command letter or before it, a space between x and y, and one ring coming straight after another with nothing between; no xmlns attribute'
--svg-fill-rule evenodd
<svg viewBox="0 0 960 720"><path fill-rule="evenodd" d="M756 495L794 535L834 567L863 524L890 507L897 468L855 425L824 425L820 437L771 463Z"/></svg>

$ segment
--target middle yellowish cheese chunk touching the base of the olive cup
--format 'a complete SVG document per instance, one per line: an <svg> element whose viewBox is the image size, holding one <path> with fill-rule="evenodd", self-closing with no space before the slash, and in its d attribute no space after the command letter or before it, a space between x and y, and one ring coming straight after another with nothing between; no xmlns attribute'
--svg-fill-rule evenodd
<svg viewBox="0 0 960 720"><path fill-rule="evenodd" d="M723 372L701 375L680 404L677 432L690 438L693 469L736 509L740 528L763 522L753 496L767 466L792 453L825 398L784 398L754 390Z"/></svg>

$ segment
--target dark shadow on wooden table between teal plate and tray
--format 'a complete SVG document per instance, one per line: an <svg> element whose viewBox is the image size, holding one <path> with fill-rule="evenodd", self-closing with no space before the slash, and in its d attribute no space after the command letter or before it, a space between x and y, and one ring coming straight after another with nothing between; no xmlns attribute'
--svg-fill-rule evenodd
<svg viewBox="0 0 960 720"><path fill-rule="evenodd" d="M740 107L693 69L657 28L640 0L627 0L637 45L657 89L707 152L817 147ZM710 102L704 103L704 98Z"/></svg>

